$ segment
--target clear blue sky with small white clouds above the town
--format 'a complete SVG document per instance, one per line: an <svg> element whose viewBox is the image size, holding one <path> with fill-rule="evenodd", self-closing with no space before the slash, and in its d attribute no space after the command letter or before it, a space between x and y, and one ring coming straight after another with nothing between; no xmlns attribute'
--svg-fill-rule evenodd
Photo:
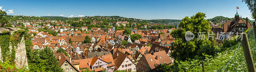
<svg viewBox="0 0 256 72"><path fill-rule="evenodd" d="M220 15L233 18L238 6L238 14L252 20L250 10L242 0L0 0L0 6L8 15L96 15L146 20L183 19L197 12L206 13L206 19Z"/></svg>

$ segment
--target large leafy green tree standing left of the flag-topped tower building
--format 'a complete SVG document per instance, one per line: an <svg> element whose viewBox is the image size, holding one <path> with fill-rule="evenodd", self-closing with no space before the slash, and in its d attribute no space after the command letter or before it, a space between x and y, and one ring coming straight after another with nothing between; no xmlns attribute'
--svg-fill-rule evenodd
<svg viewBox="0 0 256 72"><path fill-rule="evenodd" d="M203 59L202 54L215 55L215 46L213 41L207 40L207 33L205 33L204 38L195 37L191 41L185 40L186 31L193 32L197 34L199 32L207 32L211 29L210 24L205 20L205 13L198 12L196 15L185 17L180 22L180 27L182 29L172 30L172 37L176 40L172 43L171 56L175 60L185 61L190 59ZM210 37L211 38L211 37ZM203 40L204 39L204 40Z"/></svg>

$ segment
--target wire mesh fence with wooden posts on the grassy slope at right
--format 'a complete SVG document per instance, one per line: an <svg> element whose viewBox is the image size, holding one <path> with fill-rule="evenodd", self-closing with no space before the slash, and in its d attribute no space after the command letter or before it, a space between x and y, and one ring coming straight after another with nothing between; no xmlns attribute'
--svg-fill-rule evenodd
<svg viewBox="0 0 256 72"><path fill-rule="evenodd" d="M255 36L253 28L247 33L254 65L256 65ZM219 72L248 72L241 42L236 46L233 56L228 60Z"/></svg>

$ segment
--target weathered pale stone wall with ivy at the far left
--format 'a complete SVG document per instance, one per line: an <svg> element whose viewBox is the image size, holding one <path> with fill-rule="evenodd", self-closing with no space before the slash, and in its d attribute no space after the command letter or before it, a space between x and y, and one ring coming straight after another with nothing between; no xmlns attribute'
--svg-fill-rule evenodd
<svg viewBox="0 0 256 72"><path fill-rule="evenodd" d="M10 35L12 35L14 32L16 32L18 30L23 30L23 29L20 29L20 28L9 28L9 27L0 27L0 33L3 33L5 31L10 31ZM15 50L16 51L16 53L15 53L15 62L16 62L16 67L17 68L24 68L25 66L28 66L28 60L27 60L27 53L26 53L26 46L25 46L24 36L22 37L18 47L12 48L12 45L10 43L9 48L10 48L10 52L11 52L12 49L16 49ZM1 54L1 47L0 47L0 57L1 57L0 60L3 61L2 54Z"/></svg>

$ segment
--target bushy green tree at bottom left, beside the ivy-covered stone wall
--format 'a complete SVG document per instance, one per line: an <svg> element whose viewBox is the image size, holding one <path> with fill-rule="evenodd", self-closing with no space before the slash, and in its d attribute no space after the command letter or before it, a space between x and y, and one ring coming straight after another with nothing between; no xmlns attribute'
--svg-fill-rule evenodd
<svg viewBox="0 0 256 72"><path fill-rule="evenodd" d="M34 50L30 52L31 60L29 62L29 69L32 72L63 72L59 67L59 62L50 48L45 48L41 51Z"/></svg>

